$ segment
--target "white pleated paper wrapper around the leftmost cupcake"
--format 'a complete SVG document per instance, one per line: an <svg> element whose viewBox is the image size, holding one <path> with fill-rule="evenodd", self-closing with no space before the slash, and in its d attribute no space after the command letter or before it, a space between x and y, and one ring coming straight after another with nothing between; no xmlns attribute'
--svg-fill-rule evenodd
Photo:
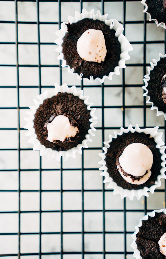
<svg viewBox="0 0 166 259"><path fill-rule="evenodd" d="M88 134L86 134L85 139L82 141L81 144L78 144L76 147L73 147L69 150L65 151L56 151L52 150L51 148L46 148L44 145L40 143L40 141L37 139L37 135L35 133L34 129L34 115L36 113L36 110L38 109L39 105L43 103L43 101L46 98L51 98L54 95L57 95L58 92L67 92L67 93L72 93L74 96L78 96L81 100L84 100L84 103L87 105L87 109L90 110L90 129L88 130ZM60 160L61 156L64 158L64 160L67 160L68 157L74 157L76 156L76 153L81 154L82 153L82 148L87 148L87 142L92 141L91 136L94 136L92 131L96 131L94 128L94 124L97 123L97 117L94 116L94 111L96 108L91 108L93 103L88 102L89 96L83 96L83 90L77 91L75 86L72 86L69 88L67 84L63 85L58 85L55 84L55 89L54 90L46 90L44 93L41 95L37 95L37 99L34 99L34 106L29 106L31 109L30 111L27 112L29 115L28 118L25 118L27 121L27 124L24 126L24 128L28 129L28 132L26 133L26 136L30 136L30 139L28 143L33 144L33 150L39 150L40 151L40 156L47 155L48 159L51 158L56 158L58 161Z"/></svg>

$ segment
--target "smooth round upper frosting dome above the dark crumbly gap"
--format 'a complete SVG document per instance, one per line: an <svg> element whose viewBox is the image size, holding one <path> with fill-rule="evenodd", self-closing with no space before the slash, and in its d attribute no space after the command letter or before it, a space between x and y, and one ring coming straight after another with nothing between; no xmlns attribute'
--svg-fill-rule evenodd
<svg viewBox="0 0 166 259"><path fill-rule="evenodd" d="M122 169L133 176L143 176L146 171L151 170L153 154L150 148L142 143L132 143L125 147L119 157Z"/></svg>

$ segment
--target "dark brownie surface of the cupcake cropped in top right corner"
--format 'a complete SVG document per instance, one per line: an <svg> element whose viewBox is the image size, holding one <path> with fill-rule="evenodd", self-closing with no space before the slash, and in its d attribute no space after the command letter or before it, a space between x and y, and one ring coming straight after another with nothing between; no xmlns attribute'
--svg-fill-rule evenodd
<svg viewBox="0 0 166 259"><path fill-rule="evenodd" d="M146 0L146 4L151 19L156 19L158 23L166 23L166 0Z"/></svg>

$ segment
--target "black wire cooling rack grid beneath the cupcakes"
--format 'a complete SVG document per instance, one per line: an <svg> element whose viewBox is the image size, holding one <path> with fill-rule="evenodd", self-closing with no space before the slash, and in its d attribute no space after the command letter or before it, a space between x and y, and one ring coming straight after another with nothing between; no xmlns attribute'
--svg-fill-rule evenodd
<svg viewBox="0 0 166 259"><path fill-rule="evenodd" d="M11 0L12 1L12 0ZM132 0L133 1L133 0ZM135 0L135 2L138 2L139 0ZM8 2L8 1L6 1ZM106 192L112 192L112 190L109 190L109 189L105 189L105 185L103 184L103 187L102 187L102 190L100 189L97 189L97 190L85 190L84 189L84 171L86 170L98 170L97 168L84 168L84 150L82 152L82 165L81 165L81 172L82 172L82 188L81 190L65 190L65 191L72 191L72 192L81 192L82 194L82 209L81 210L63 210L63 175L62 175L62 172L65 171L65 170L69 170L69 171L73 171L73 170L80 170L80 168L75 168L75 169L71 169L71 168L63 168L63 162L62 162L62 159L61 159L61 163L60 163L60 169L44 169L42 168L42 159L40 157L39 159L39 168L38 169L21 169L21 166L20 166L20 151L21 150L32 150L32 149L28 149L28 148L20 148L20 130L24 130L23 128L20 127L20 109L27 109L28 107L20 107L20 93L19 93L19 89L22 88L22 86L20 86L20 82L19 82L19 67L38 67L39 69L39 85L38 85L38 88L39 88L39 94L41 94L41 90L42 90L42 84L41 84L41 68L42 67L59 67L60 68L60 84L62 84L62 68L61 68L61 61L60 61L60 64L59 65L42 65L41 64L41 45L42 44L46 44L46 45L53 45L54 43L41 43L40 42L40 28L39 26L41 24L58 24L59 25L59 28L60 28L60 24L61 24L61 2L70 2L68 0L49 0L49 2L58 2L59 4L59 21L57 22L40 22L39 20L39 2L47 2L47 1L43 1L43 0L36 0L36 1L33 1L31 0L31 2L36 2L36 5L37 5L37 21L36 22L29 22L29 21L18 21L18 1L15 0L15 21L0 21L0 24L1 23L15 23L15 35L16 35L16 40L15 42L0 42L0 44L15 44L16 46L16 58L17 58L17 62L16 62L16 65L1 65L1 66L16 66L16 70L17 70L17 85L16 86L1 86L3 88L17 88L17 96L18 96L18 105L17 107L1 107L1 109L17 109L17 113L18 113L18 126L17 128L1 128L1 130L18 130L18 148L16 149L1 149L1 151L4 151L4 150L17 150L18 151L18 170L17 169L1 169L1 171L18 171L18 178L19 178L19 187L18 187L18 190L0 190L1 192L18 192L18 195L19 195L19 208L18 208L18 211L0 211L0 213L18 213L18 216L19 216L19 227L18 227L18 233L0 233L0 235L18 235L18 239L19 239L19 242L18 242L18 254L1 254L0 257L2 256L18 256L18 258L20 258L20 256L26 256L26 255L29 255L29 256L32 256L32 255L38 255L39 258L42 258L42 255L60 255L60 258L63 258L63 255L65 254L81 254L82 258L85 257L85 254L101 254L103 255L102 258L106 258L106 255L107 254L112 254L112 255L124 255L124 258L127 258L127 255L129 254L132 254L131 251L127 251L127 234L132 234L132 232L130 231L127 231L127 228L126 228L126 213L127 212L144 212L144 213L147 213L147 211L149 211L147 209L147 198L145 197L145 200L144 200L144 209L140 209L140 210L135 210L135 209L130 209L128 210L126 208L126 198L124 198L123 200L123 203L124 203L124 209L122 210L116 210L116 209L111 209L111 210L106 210L105 209L105 193ZM21 2L21 1L20 1ZM24 2L28 2L27 1L24 1ZM72 2L80 2L80 11L82 11L82 7L83 7L83 1L80 0L74 0ZM86 0L84 1L86 2ZM100 2L100 1L96 1L96 2ZM101 0L101 10L102 10L102 14L104 14L104 2L108 2L107 0L104 1L104 0ZM112 0L112 1L109 1L109 2L117 2L116 0ZM143 21L126 21L126 3L127 2L131 2L131 0L123 0L123 1L118 1L118 2L123 2L123 21L122 24L124 26L124 34L125 34L125 25L126 24L143 24L144 25L144 39L143 41L135 41L135 42L131 42L131 44L143 44L143 53L144 53L144 59L143 59L143 63L137 63L137 64L127 64L127 66L141 66L143 67L143 73L144 75L146 74L146 66L148 65L146 63L146 44L156 44L156 43L164 43L165 44L165 47L166 47L166 38L165 40L155 40L155 41L147 41L146 40L146 25L149 23L149 21L147 21L146 19L146 14L144 14L144 20ZM18 41L18 24L37 24L37 42L19 42ZM38 46L38 65L20 65L19 64L19 50L18 50L18 46L19 44L36 44ZM146 105L146 99L144 97L144 104L143 105L136 105L136 106L127 106L125 105L125 87L131 87L132 85L127 85L125 84L125 70L123 69L122 70L122 85L104 85L102 84L102 105L101 106L97 106L96 108L100 108L102 109L102 126L101 127L97 127L98 130L101 130L102 131L102 142L104 142L104 131L105 130L119 130L120 127L105 127L104 126L104 108L121 108L122 111L123 111L123 127L125 128L125 109L126 108L143 108L143 111L144 111L144 127L147 127L146 126L146 109L150 108L149 106ZM137 84L137 85L134 85L134 87L141 87L142 84ZM24 86L24 88L27 87L27 88L31 88L31 87L35 87L35 86ZM45 87L48 87L48 86L45 86ZM50 87L50 86L49 86ZM77 87L80 87L79 85ZM101 85L83 85L83 81L81 81L81 88L86 88L86 87L101 87ZM122 87L122 91L123 91L123 103L121 106L117 105L117 106L105 106L104 105L104 88L106 87ZM166 126L166 124L165 124ZM160 127L160 129L165 129L165 126L163 127ZM101 149L101 147L99 148L88 148L89 150L99 150ZM61 176L61 185L60 185L60 190L47 190L47 191L50 191L50 192L60 192L60 198L61 198L61 204L60 204L60 210L46 210L46 211L43 211L42 210L42 192L45 192L45 190L42 190L42 171L49 171L49 170L57 170L59 171L60 170L60 176ZM21 186L20 186L20 172L21 171L39 171L39 177L40 177L40 185L39 185L39 190L33 190L33 192L39 192L39 210L38 211L21 211L21 206L20 206L20 199L21 199L21 192L30 192L31 190L21 190ZM84 209L84 193L85 192L102 192L102 196L103 196L103 209L102 210L85 210ZM155 190L155 192L165 192L165 189L157 189ZM166 202L166 200L165 200ZM36 233L21 233L21 229L20 229L20 217L21 217L21 213L39 213L39 232L36 232ZM42 232L42 213L43 212L59 212L60 213L60 217L61 217L61 226L60 226L60 231L59 232ZM82 213L82 231L80 232L63 232L63 213L64 212L81 212ZM103 231L98 231L98 232L87 232L84 230L84 213L85 212L102 212L103 213ZM105 230L105 213L106 212L123 212L123 215L124 215L124 231L121 231L121 232L118 232L118 231L106 231ZM20 239L21 239L21 235L30 235L30 234L33 234L33 235L39 235L39 251L38 253L21 253L20 252ZM45 235L45 234L60 234L60 237L61 237L61 250L60 252L49 252L49 253L43 253L42 252L42 235ZM63 249L63 235L64 234L81 234L82 235L82 251L80 252L65 252L64 249ZM97 251L85 251L84 249L84 235L85 234L103 234L103 250L100 251L100 252L97 252ZM118 251L106 251L106 239L105 239L105 235L106 234L123 234L124 235L124 251L122 252L118 252ZM71 237L72 238L72 237ZM66 257L65 257L66 258Z"/></svg>

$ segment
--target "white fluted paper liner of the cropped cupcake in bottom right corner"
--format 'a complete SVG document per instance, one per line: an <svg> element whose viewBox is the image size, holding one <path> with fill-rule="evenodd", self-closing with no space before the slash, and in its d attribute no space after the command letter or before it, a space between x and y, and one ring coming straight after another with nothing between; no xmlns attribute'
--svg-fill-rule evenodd
<svg viewBox="0 0 166 259"><path fill-rule="evenodd" d="M149 217L154 217L155 216L155 213L161 213L163 212L164 214L166 214L166 209L160 209L160 210L154 210L152 212L148 212L143 218L140 219L139 223L137 226L135 226L135 229L136 231L132 234L132 238L133 238L133 242L131 244L131 247L134 249L134 253L133 253L133 257L136 257L136 259L141 259L141 255L140 255L140 251L137 249L137 244L136 244L136 235L138 234L139 232L139 227L142 226L142 220L147 220L148 219L148 216ZM157 258L156 258L157 259Z"/></svg>

